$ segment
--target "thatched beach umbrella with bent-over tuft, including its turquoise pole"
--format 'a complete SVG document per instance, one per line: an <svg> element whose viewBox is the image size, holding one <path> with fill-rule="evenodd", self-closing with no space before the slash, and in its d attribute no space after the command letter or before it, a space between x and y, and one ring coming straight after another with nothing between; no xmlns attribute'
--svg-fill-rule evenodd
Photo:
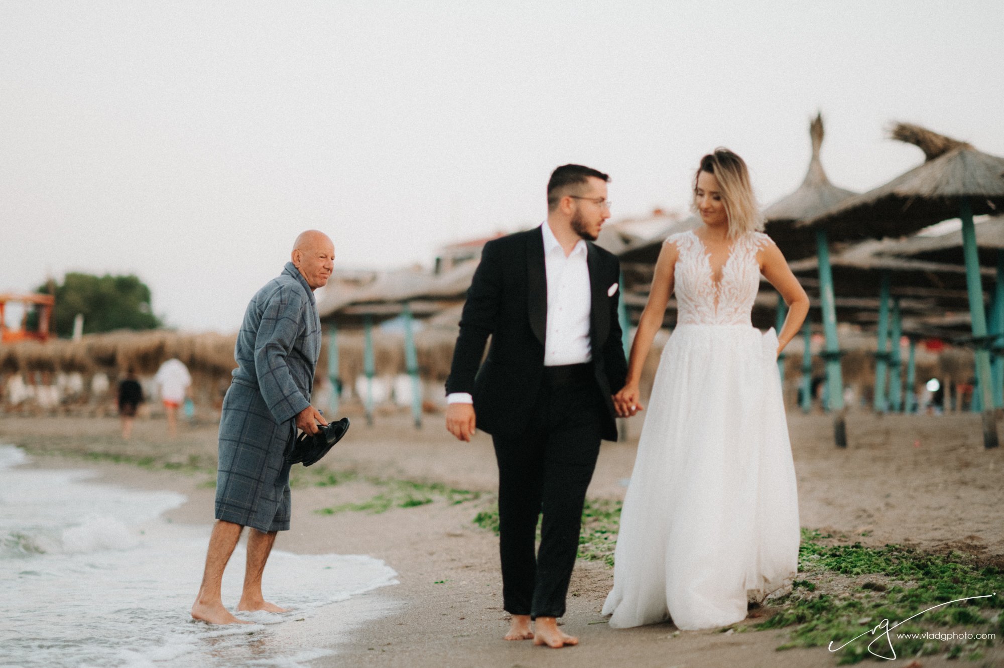
<svg viewBox="0 0 1004 668"><path fill-rule="evenodd" d="M985 341L986 314L973 216L1004 211L1004 157L977 150L965 141L918 125L899 123L893 138L919 146L925 161L885 186L846 200L835 210L799 226L824 229L833 241L902 237L948 219L962 220L973 337ZM977 351L977 377L983 390L984 445L997 445L990 356Z"/></svg>

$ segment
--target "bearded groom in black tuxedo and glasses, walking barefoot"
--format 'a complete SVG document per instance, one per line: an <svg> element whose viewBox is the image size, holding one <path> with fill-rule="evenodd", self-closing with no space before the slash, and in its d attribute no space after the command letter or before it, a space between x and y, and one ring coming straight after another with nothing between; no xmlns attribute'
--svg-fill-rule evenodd
<svg viewBox="0 0 1004 668"><path fill-rule="evenodd" d="M547 184L547 221L485 245L446 383L447 429L469 441L478 426L495 445L502 594L512 615L506 640L578 642L557 618L599 441L616 439L610 395L628 366L619 264L590 243L610 217L608 181L580 164L559 166Z"/></svg>

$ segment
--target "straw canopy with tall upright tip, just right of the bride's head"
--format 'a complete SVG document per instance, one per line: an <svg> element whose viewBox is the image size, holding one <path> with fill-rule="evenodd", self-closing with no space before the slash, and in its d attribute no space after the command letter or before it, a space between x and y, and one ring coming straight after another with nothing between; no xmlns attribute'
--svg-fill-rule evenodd
<svg viewBox="0 0 1004 668"><path fill-rule="evenodd" d="M794 193L781 198L763 212L767 222L767 234L788 260L806 258L816 252L815 234L798 227L799 222L832 211L840 203L855 195L852 191L837 188L829 183L822 169L819 159L819 149L823 139L821 113L817 113L809 123L809 137L812 141L812 156L809 158L809 169L802 185Z"/></svg>

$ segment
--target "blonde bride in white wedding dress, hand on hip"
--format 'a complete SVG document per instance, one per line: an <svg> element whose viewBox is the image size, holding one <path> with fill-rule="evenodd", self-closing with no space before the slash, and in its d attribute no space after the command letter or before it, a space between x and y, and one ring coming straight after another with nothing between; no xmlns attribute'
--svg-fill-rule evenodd
<svg viewBox="0 0 1004 668"><path fill-rule="evenodd" d="M765 597L797 571L798 496L776 360L808 298L758 232L741 157L717 148L701 158L693 207L704 225L663 245L614 397L622 414L642 409L642 367L676 289L677 327L656 372L603 605L614 628L734 624L749 591ZM751 324L760 274L790 307L779 335Z"/></svg>

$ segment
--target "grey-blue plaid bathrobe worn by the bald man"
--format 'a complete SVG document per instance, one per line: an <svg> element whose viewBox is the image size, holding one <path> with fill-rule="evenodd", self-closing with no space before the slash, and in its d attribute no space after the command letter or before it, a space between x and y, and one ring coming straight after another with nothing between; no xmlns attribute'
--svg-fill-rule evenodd
<svg viewBox="0 0 1004 668"><path fill-rule="evenodd" d="M320 354L313 292L293 263L251 299L237 335L237 368L223 399L216 519L261 532L289 529L287 447L310 405Z"/></svg>

